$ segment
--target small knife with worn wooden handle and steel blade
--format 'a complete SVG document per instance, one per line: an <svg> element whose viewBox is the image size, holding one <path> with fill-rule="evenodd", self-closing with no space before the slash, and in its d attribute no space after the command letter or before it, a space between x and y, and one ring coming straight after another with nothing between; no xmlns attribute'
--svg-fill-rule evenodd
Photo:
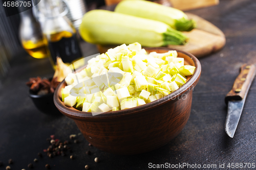
<svg viewBox="0 0 256 170"><path fill-rule="evenodd" d="M256 69L253 64L243 64L239 76L234 81L232 89L225 97L225 103L228 105L225 131L231 138L234 136L234 132L237 129L245 99L253 78L255 77L255 73Z"/></svg>

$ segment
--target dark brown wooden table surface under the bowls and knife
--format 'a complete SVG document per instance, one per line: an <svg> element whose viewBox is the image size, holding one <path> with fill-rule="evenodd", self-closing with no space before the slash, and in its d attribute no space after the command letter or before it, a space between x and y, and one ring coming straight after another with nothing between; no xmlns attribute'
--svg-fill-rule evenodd
<svg viewBox="0 0 256 170"><path fill-rule="evenodd" d="M119 156L105 153L89 147L88 141L80 135L77 137L80 143L70 144L74 160L69 156L47 157L42 151L49 145L46 138L55 134L56 138L67 140L70 134L78 134L79 130L73 120L65 116L52 117L36 109L25 83L30 77L51 77L53 70L48 59L20 55L12 61L8 77L0 89L0 161L4 162L0 170L5 169L10 158L14 161L10 165L12 169L29 169L29 163L33 163L34 169L45 169L47 163L51 169L84 169L86 164L91 169L147 169L149 163L216 164L217 168L209 169L229 169L228 163L256 163L255 80L234 138L229 138L224 130L225 95L238 76L240 66L256 63L255 8L256 2L252 0L223 0L218 6L189 11L219 27L226 35L227 43L221 51L200 58L201 79L194 89L191 114L183 131L164 147L145 154ZM84 56L98 53L95 45L83 42L82 47ZM86 154L88 150L92 155ZM38 152L44 157L38 158ZM101 161L94 162L95 157ZM38 158L37 163L33 162L34 158ZM219 164L223 163L225 167L220 168Z"/></svg>

